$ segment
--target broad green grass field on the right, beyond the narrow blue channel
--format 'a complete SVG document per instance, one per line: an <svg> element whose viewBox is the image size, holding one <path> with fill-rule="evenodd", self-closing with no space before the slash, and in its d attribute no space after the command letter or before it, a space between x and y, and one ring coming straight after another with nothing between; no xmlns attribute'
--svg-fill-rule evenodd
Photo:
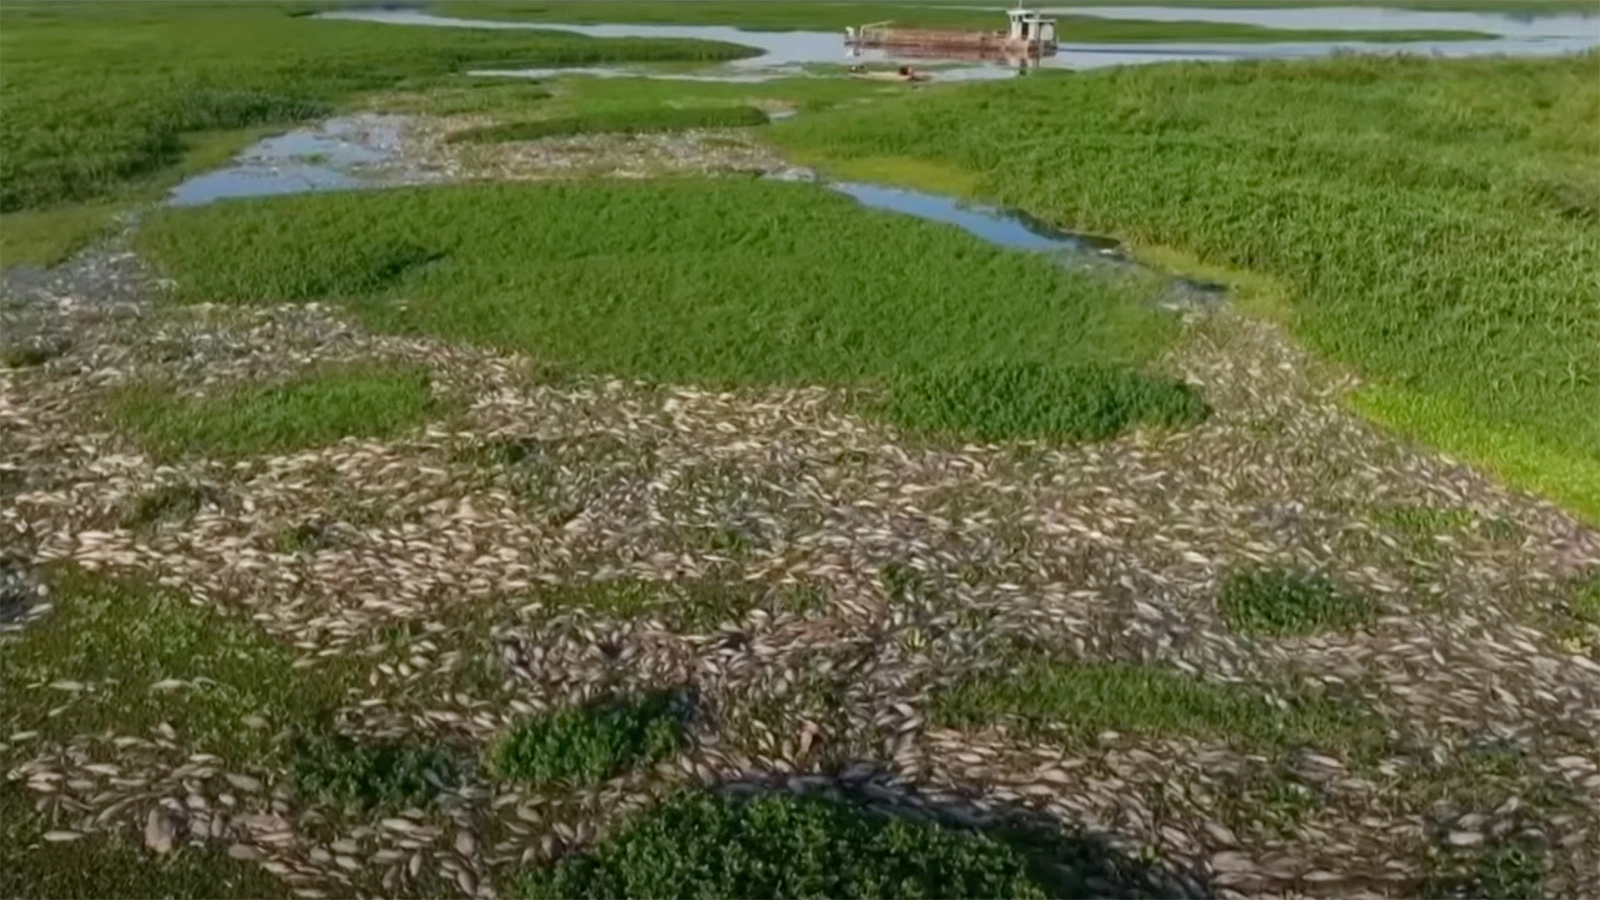
<svg viewBox="0 0 1600 900"><path fill-rule="evenodd" d="M1366 375L1358 408L1600 520L1597 119L1589 53L1078 72L770 133L1267 275L1298 336Z"/></svg>

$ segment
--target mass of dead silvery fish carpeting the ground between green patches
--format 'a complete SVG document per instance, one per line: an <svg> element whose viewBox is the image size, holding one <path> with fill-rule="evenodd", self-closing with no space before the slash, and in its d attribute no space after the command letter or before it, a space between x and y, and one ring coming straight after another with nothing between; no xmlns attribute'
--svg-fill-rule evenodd
<svg viewBox="0 0 1600 900"><path fill-rule="evenodd" d="M1214 410L1187 431L950 447L862 420L826 388L550 381L539 360L371 335L318 306L155 306L160 283L136 261L93 253L125 261L120 288L62 277L16 299L75 340L0 368L0 468L24 485L0 508L13 570L158 575L248 615L310 677L426 634L358 679L341 709L358 735L482 748L528 713L616 687L688 685L704 714L666 764L595 788L474 770L382 818L320 807L270 765L195 756L206 748L171 725L0 735L53 839L226 846L307 894L490 897L674 788L778 778L971 822L1048 817L1152 862L1120 895L1411 895L1443 860L1493 865L1507 836L1538 849L1544 894L1600 894L1600 644L1550 617L1563 585L1600 567L1600 535L1352 418L1352 381L1270 325L1182 315L1163 365ZM238 464L157 461L85 424L104 391L149 378L206 392L357 360L424 367L453 412L397 439ZM518 463L504 447L534 450ZM206 498L181 527L125 522L174 484ZM306 522L334 540L285 546ZM1310 637L1237 634L1216 588L1253 565L1323 570L1381 615ZM614 578L814 601L717 625L552 605L552 586ZM1021 644L1323 685L1392 740L1376 759L1338 741L1270 756L1182 733L1064 743L936 724L934 697L1008 671ZM1517 764L1474 775L1482 748ZM166 825L152 838L150 822Z"/></svg>

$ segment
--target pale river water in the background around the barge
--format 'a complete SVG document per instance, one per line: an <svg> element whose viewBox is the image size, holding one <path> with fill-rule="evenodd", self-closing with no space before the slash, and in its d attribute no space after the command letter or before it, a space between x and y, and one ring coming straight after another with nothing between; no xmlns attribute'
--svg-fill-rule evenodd
<svg viewBox="0 0 1600 900"><path fill-rule="evenodd" d="M986 8L986 6L984 6ZM1509 13L1451 13L1434 10L1386 10L1323 6L1314 10L1206 10L1189 6L1072 6L1059 8L1058 14L1083 14L1142 21L1211 21L1288 29L1338 29L1338 30L1474 30L1491 38L1483 40L1427 40L1376 43L1363 40L1322 40L1282 43L1077 43L1070 27L1062 29L1062 43L1054 56L1037 64L1046 69L1096 69L1104 66L1136 66L1170 62L1179 59L1227 61L1227 59L1293 59L1326 56L1331 53L1421 53L1430 56L1485 56L1528 54L1549 56L1579 53L1600 45L1600 16L1525 16ZM998 18L998 8L995 16ZM698 77L710 80L749 80L752 72L771 69L794 70L816 62L918 62L922 58L901 58L885 50L848 51L843 35L837 32L760 32L728 26L654 26L654 24L600 24L578 26L557 22L461 19L435 16L419 10L339 10L320 13L320 19L344 19L384 22L394 26L424 27L472 27L472 29L542 29L584 34L590 37L645 37L645 38L699 38L739 43L760 50L760 56L738 59L707 67L704 74L661 74L648 67L603 66L594 69L563 69L562 74L589 70L595 74L634 74L651 77ZM941 80L995 78L1016 74L1010 62L966 62L933 72ZM549 69L482 70L480 75L547 77Z"/></svg>

